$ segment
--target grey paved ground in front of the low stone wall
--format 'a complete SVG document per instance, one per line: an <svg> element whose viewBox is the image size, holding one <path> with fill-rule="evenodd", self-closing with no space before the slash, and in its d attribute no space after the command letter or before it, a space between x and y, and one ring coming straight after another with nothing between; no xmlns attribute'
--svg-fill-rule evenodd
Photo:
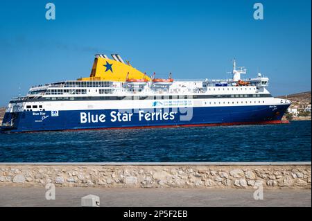
<svg viewBox="0 0 312 221"><path fill-rule="evenodd" d="M0 206L80 206L80 198L94 194L101 206L310 206L311 190L254 190L207 188L55 188L55 200L45 188L0 186Z"/></svg>

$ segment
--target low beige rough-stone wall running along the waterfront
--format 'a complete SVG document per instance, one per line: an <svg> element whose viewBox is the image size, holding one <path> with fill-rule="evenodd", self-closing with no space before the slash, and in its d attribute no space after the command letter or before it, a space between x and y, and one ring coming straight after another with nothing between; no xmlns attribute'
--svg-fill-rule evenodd
<svg viewBox="0 0 312 221"><path fill-rule="evenodd" d="M246 163L244 163L246 164ZM136 188L311 188L311 163L265 165L0 164L0 186Z"/></svg>

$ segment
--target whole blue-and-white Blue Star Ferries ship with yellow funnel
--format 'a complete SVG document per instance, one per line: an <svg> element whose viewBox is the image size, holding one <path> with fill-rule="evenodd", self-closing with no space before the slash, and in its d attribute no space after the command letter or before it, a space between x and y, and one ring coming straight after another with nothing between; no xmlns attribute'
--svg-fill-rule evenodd
<svg viewBox="0 0 312 221"><path fill-rule="evenodd" d="M96 54L88 78L34 86L12 98L1 131L96 130L285 123L290 100L274 98L269 79L174 80L148 76L120 55Z"/></svg>

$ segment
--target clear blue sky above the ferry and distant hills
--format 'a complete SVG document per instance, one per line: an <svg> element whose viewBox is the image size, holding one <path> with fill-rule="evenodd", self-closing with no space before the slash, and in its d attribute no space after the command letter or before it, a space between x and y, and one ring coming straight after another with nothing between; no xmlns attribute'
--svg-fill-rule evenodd
<svg viewBox="0 0 312 221"><path fill-rule="evenodd" d="M273 95L311 90L311 1L0 1L0 106L32 85L89 76L119 53L159 77L226 78L232 59ZM263 3L264 19L253 19Z"/></svg>

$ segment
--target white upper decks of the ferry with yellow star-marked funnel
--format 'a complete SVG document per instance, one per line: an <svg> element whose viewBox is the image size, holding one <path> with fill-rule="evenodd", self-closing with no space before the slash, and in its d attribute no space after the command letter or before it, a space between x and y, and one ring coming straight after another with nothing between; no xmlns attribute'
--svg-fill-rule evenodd
<svg viewBox="0 0 312 221"><path fill-rule="evenodd" d="M141 73L132 68L130 63L125 64L119 55L113 56L113 58L115 60L108 59L106 55L96 55L89 78L34 86L29 89L27 96L18 99L25 100L51 96L270 94L266 89L269 79L261 76L260 73L257 78L241 80L241 74L246 73L246 69L243 69L243 67L236 68L235 60L232 79L173 80L171 73L168 79L155 78L155 73L153 76L148 77L146 73ZM103 69L103 67L106 67L106 69ZM125 71L128 71L126 75ZM110 72L114 73L114 75L110 74ZM107 77L108 75L110 77ZM115 78L112 78L112 76L115 76Z"/></svg>

